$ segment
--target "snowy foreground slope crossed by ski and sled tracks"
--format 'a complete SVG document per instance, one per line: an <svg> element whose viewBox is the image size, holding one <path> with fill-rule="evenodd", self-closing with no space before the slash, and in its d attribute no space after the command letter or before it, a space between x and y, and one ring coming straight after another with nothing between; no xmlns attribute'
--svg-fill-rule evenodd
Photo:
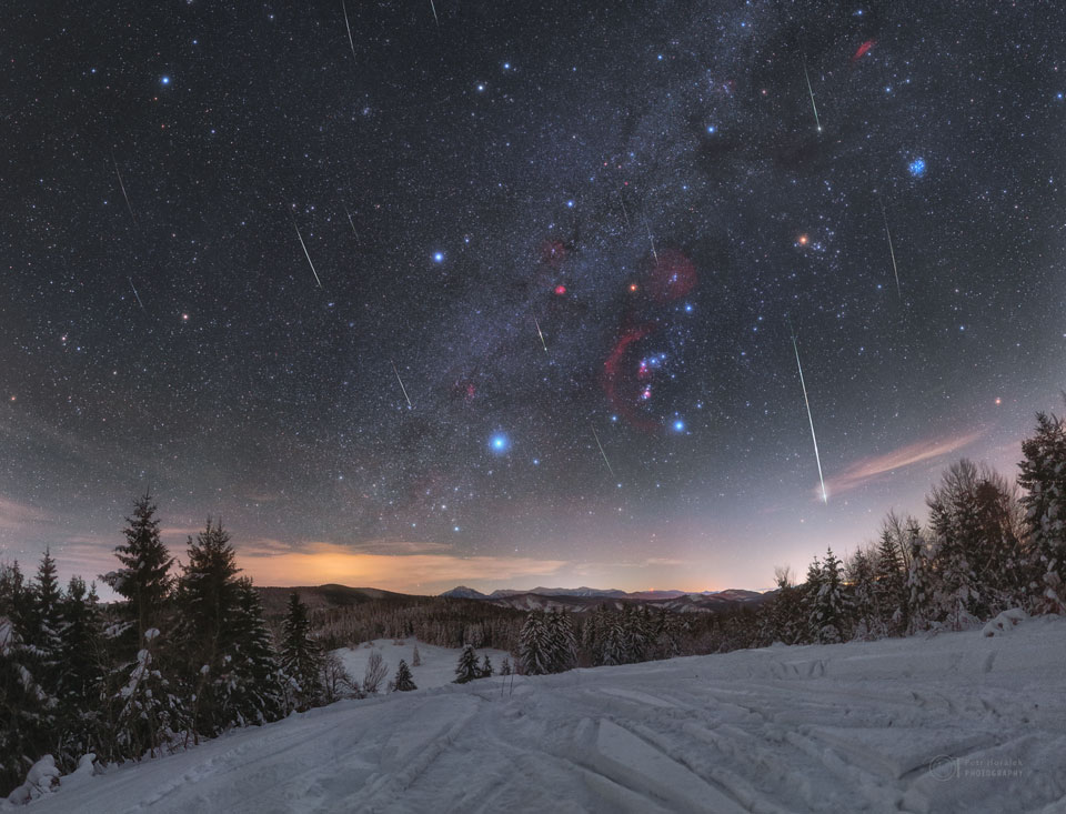
<svg viewBox="0 0 1066 814"><path fill-rule="evenodd" d="M77 777L29 814L1066 811L1066 619L447 684ZM418 674L416 674L418 675ZM502 685L502 686L501 686Z"/></svg>

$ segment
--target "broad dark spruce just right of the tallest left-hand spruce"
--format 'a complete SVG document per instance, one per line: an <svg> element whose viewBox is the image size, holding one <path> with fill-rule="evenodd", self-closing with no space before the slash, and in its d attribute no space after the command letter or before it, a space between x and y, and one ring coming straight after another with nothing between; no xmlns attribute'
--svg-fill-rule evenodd
<svg viewBox="0 0 1066 814"><path fill-rule="evenodd" d="M190 733L214 737L237 725L233 709L233 630L238 610L237 559L221 523L189 537L189 562L182 569L174 597L180 613L178 650L183 655L183 683L189 694Z"/></svg>

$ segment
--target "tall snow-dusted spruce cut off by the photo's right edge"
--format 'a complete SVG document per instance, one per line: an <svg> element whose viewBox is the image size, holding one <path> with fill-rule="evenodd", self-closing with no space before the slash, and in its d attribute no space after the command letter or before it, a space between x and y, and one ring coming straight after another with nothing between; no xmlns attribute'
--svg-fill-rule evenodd
<svg viewBox="0 0 1066 814"><path fill-rule="evenodd" d="M1037 413L1036 432L1022 442L1022 454L1032 604L1038 612L1066 613L1066 421Z"/></svg>

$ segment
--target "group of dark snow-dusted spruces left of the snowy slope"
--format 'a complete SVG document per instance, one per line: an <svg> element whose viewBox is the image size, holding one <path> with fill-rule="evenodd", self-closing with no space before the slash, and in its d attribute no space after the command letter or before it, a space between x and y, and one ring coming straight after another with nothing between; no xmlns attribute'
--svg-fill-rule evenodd
<svg viewBox="0 0 1066 814"><path fill-rule="evenodd" d="M189 539L177 574L159 524L145 494L101 577L120 602L80 576L63 589L48 551L32 579L0 565L0 794L43 755L61 773L87 754L139 760L332 699L299 596L275 646L221 523Z"/></svg>

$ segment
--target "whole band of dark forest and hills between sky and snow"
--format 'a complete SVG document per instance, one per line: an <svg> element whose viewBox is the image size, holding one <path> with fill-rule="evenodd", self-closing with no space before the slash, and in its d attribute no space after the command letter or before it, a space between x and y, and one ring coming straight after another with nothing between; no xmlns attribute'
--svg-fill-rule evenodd
<svg viewBox="0 0 1066 814"><path fill-rule="evenodd" d="M79 576L60 585L49 552L31 577L18 562L0 564L0 794L24 802L79 766L141 760L365 697L383 689L381 665L360 683L330 651L371 639L501 649L519 672L542 674L1066 613L1066 423L1038 414L1022 451L1016 481L954 463L928 494L924 523L891 513L874 545L845 561L826 551L802 582L778 569L765 602L722 613L676 614L638 602L522 613L358 591L313 609L290 593L282 605L276 589L239 576L229 532L210 520L175 567L145 494L115 547L118 567L101 576L118 602L101 603ZM489 672L472 664L464 647L457 680ZM391 684L413 689L410 674ZM51 768L23 783L46 755Z"/></svg>

